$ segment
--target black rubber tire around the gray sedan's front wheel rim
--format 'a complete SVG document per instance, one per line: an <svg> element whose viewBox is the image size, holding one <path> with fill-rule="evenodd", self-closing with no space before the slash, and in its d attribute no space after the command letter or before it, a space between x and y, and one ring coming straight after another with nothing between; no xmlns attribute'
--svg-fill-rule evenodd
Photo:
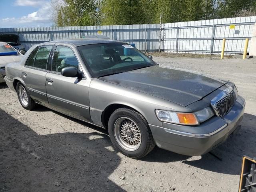
<svg viewBox="0 0 256 192"><path fill-rule="evenodd" d="M138 128L141 133L141 143L138 149L134 151L126 150L122 146L120 146L120 144L116 140L116 137L114 135L114 125L120 118L129 118L138 125ZM122 154L130 158L142 158L146 156L150 151L152 151L153 148L156 146L151 130L148 126L148 122L146 121L144 116L128 108L119 108L111 114L108 121L108 133L114 147L117 150L119 150Z"/></svg>

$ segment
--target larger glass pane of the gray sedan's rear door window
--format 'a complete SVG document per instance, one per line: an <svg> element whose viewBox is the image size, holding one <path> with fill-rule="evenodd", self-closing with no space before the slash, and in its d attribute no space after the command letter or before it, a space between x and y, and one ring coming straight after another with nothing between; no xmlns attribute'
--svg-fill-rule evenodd
<svg viewBox="0 0 256 192"><path fill-rule="evenodd" d="M34 67L46 69L47 60L52 49L51 45L40 46L34 61Z"/></svg>

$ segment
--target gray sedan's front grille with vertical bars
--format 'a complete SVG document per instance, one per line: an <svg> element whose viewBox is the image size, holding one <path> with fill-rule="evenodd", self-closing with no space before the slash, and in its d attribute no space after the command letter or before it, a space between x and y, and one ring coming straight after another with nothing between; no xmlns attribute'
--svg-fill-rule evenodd
<svg viewBox="0 0 256 192"><path fill-rule="evenodd" d="M236 101L236 94L234 90L222 100L216 102L216 110L218 112L218 116L223 116L226 114L234 105Z"/></svg>

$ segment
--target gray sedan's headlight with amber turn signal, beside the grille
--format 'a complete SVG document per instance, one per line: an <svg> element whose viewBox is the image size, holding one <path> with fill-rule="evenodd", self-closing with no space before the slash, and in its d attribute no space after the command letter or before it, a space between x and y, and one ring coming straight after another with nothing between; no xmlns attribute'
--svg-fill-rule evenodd
<svg viewBox="0 0 256 192"><path fill-rule="evenodd" d="M156 116L160 121L183 125L198 125L214 116L210 107L194 113L180 113L173 111L156 110Z"/></svg>

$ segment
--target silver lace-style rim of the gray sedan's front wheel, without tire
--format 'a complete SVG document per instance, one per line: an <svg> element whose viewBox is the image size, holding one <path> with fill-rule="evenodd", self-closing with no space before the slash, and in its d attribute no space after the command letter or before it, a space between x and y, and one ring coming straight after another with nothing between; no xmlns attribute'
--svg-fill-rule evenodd
<svg viewBox="0 0 256 192"><path fill-rule="evenodd" d="M127 151L140 147L141 134L138 125L127 117L121 117L114 124L114 136L118 144Z"/></svg>

